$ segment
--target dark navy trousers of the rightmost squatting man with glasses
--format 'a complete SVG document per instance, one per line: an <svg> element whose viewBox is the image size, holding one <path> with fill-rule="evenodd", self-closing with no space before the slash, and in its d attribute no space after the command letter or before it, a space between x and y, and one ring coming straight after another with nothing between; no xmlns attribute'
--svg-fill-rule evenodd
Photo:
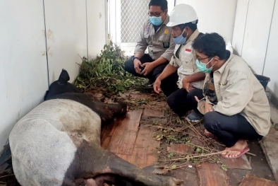
<svg viewBox="0 0 278 186"><path fill-rule="evenodd" d="M262 139L252 125L242 115L226 116L219 112L207 112L204 115L205 129L217 136L225 146L231 147L238 139Z"/></svg>

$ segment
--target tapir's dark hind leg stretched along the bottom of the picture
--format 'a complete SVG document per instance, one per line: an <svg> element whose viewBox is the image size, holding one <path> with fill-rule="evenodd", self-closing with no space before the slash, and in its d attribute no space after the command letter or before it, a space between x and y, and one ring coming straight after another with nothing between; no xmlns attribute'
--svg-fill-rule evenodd
<svg viewBox="0 0 278 186"><path fill-rule="evenodd" d="M135 185L176 186L183 183L183 181L175 178L152 174L124 161L114 155L114 153L103 150L98 145L88 144L83 139L78 140L80 141L78 142L78 150L75 153L73 163L66 173L66 178L68 179L94 179L110 174L115 175L115 177L121 177L123 180L131 180Z"/></svg>

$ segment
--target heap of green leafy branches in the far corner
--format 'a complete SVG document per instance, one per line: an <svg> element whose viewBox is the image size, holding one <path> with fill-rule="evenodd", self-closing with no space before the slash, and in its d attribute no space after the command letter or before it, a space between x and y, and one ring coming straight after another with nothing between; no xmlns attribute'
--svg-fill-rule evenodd
<svg viewBox="0 0 278 186"><path fill-rule="evenodd" d="M95 59L83 57L80 72L74 85L82 91L101 89L106 94L119 94L130 88L138 88L144 80L124 70L128 57L114 42L104 45L104 49Z"/></svg>

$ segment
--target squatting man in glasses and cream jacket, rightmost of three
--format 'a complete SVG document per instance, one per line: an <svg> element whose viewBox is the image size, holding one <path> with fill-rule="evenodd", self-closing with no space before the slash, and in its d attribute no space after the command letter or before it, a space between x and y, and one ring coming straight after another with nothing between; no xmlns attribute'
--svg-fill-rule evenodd
<svg viewBox="0 0 278 186"><path fill-rule="evenodd" d="M250 150L246 140L262 139L270 130L265 89L246 62L226 50L217 33L198 37L193 48L198 68L206 73L205 98L196 98L205 135L217 136L226 145L224 158L238 158Z"/></svg>

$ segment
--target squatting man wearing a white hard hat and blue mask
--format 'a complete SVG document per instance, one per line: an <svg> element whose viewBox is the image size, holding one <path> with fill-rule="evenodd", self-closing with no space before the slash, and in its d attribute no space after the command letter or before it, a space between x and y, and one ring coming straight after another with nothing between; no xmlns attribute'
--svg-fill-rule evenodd
<svg viewBox="0 0 278 186"><path fill-rule="evenodd" d="M195 38L203 35L199 32L197 23L198 17L192 6L179 4L174 7L167 24L172 27L171 34L176 43L174 55L154 83L155 92L163 91L167 95L169 107L180 117L192 110L186 117L191 122L199 122L203 118L197 110L197 101L191 96L203 98L200 89L203 89L205 79L205 74L200 72L195 64L195 50L191 46ZM169 82L175 84L176 88L169 90Z"/></svg>

